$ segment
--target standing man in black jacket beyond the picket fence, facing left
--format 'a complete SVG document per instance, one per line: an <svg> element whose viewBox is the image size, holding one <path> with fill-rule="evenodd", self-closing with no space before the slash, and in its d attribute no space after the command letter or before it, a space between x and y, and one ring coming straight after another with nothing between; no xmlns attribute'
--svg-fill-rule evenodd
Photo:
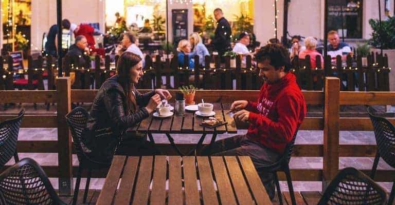
<svg viewBox="0 0 395 205"><path fill-rule="evenodd" d="M232 50L230 46L230 35L232 35L232 31L228 20L224 18L224 13L220 8L214 10L214 18L217 20L217 28L211 43L214 45L214 49L218 51L221 61L224 62L225 59L222 56L226 51Z"/></svg>

